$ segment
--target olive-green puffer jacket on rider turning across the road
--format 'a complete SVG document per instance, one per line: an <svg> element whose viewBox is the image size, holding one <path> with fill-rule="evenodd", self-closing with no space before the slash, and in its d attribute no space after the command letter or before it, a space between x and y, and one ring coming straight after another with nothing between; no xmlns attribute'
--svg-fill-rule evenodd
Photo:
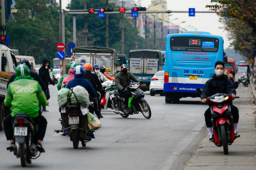
<svg viewBox="0 0 256 170"><path fill-rule="evenodd" d="M134 76L130 71L127 71L127 74L123 74L121 71L117 73L115 77L115 83L118 90L122 90L124 87L130 85L131 80L135 82L140 82L140 80Z"/></svg>

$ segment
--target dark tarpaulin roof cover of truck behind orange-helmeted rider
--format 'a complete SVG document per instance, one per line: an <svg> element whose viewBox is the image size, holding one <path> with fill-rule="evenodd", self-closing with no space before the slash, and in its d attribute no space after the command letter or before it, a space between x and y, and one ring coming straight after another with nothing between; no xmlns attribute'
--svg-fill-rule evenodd
<svg viewBox="0 0 256 170"><path fill-rule="evenodd" d="M75 47L73 49L74 53L111 53L114 54L115 61L117 63L117 51L112 48L106 47L96 47L96 46L88 46L88 47Z"/></svg>

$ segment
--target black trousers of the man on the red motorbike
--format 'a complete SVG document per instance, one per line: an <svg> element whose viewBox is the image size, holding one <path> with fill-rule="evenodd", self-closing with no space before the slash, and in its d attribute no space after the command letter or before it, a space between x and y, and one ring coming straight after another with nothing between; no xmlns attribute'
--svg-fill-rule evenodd
<svg viewBox="0 0 256 170"><path fill-rule="evenodd" d="M233 121L234 121L234 123L238 123L238 120L239 120L238 109L233 104L231 104L230 107L231 107L231 113L233 116ZM210 107L205 111L204 118L205 118L205 124L206 124L207 128L212 127L211 108Z"/></svg>

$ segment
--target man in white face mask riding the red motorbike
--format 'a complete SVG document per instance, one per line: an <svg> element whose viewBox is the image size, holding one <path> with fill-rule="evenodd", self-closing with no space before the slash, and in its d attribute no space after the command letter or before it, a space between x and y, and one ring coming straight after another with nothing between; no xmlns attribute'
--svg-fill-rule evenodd
<svg viewBox="0 0 256 170"><path fill-rule="evenodd" d="M228 79L228 77L223 74L224 73L225 64L222 61L217 61L215 63L215 74L212 76L212 79L208 80L202 90L201 99L202 102L205 102L207 97L212 96L216 93L225 93L232 95L233 100L236 97L236 90L234 90L233 83ZM235 107L232 103L230 104L231 107L231 113L234 120L234 129L235 129L235 137L238 137L237 134L237 126L238 126L238 109ZM209 107L205 113L205 123L207 126L207 129L209 131L209 141L213 141L213 131L212 131L212 123L211 123L211 108Z"/></svg>

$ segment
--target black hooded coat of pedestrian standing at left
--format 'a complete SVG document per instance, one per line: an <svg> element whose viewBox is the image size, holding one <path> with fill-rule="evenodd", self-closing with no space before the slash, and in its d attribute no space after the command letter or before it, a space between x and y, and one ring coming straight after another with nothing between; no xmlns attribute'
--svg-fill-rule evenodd
<svg viewBox="0 0 256 170"><path fill-rule="evenodd" d="M47 62L49 62L48 68L50 68L50 63L51 63L51 62L50 62L47 58L44 58L44 60L43 60L43 65L42 65L42 67L40 67L40 69L39 69L39 76L40 76L40 78L43 80L46 89L48 88L49 82L50 82L51 84L55 84L55 83L53 82L53 80L50 78L49 70L45 68L45 64L46 64Z"/></svg>

